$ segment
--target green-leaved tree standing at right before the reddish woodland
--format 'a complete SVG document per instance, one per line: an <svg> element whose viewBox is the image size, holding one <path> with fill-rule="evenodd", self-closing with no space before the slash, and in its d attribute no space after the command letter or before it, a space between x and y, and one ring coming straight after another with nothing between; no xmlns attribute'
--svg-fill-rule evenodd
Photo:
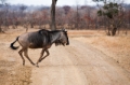
<svg viewBox="0 0 130 85"><path fill-rule="evenodd" d="M108 0L93 0L93 1L104 1L104 5L98 11L99 16L107 17L108 20L108 36L115 36L118 27L121 24L121 3L117 3L115 0L112 2ZM110 29L112 28L112 29Z"/></svg>

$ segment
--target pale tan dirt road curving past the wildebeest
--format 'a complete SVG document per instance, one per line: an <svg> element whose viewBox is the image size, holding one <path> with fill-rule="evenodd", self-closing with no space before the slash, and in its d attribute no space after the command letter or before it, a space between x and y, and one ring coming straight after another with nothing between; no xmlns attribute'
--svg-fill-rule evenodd
<svg viewBox="0 0 130 85"><path fill-rule="evenodd" d="M69 46L52 46L50 53L32 68L30 85L130 85L126 71L89 44L70 39Z"/></svg>

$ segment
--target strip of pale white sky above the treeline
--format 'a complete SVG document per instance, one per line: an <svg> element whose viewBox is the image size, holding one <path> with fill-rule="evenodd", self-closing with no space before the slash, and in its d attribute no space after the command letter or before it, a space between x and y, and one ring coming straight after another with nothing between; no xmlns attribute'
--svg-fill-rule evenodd
<svg viewBox="0 0 130 85"><path fill-rule="evenodd" d="M51 5L52 0L6 0L10 4L26 4L26 5ZM130 3L130 0L125 0L125 3ZM95 5L92 0L57 0L56 5Z"/></svg>

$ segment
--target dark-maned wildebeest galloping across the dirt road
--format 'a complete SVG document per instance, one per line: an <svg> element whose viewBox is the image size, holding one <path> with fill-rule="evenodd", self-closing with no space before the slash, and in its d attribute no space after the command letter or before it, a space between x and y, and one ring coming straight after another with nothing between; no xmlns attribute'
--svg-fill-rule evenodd
<svg viewBox="0 0 130 85"><path fill-rule="evenodd" d="M41 29L36 32L28 32L24 33L16 38L16 40L11 43L10 47L12 49L17 49L18 46L14 46L15 42L18 42L22 46L22 49L18 52L20 56L23 59L23 66L25 65L24 56L30 61L31 65L35 66L35 63L31 61L31 59L28 57L28 48L42 48L40 58L38 59L36 66L38 67L38 63L43 60L47 56L50 55L49 48L53 43L55 45L69 45L69 40L67 36L67 31L65 30L46 30ZM23 56L24 52L24 56ZM43 53L47 53L47 55L43 57Z"/></svg>

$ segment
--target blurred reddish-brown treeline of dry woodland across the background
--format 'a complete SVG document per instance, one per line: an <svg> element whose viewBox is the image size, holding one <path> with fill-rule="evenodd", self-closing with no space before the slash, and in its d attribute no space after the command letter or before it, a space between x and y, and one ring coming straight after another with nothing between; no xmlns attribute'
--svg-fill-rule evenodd
<svg viewBox="0 0 130 85"><path fill-rule="evenodd" d="M130 28L130 4L123 4L120 28ZM107 18L98 16L98 6L76 5L56 6L56 28L106 29ZM0 31L23 26L26 29L49 28L50 6L27 6L24 4L0 4Z"/></svg>

